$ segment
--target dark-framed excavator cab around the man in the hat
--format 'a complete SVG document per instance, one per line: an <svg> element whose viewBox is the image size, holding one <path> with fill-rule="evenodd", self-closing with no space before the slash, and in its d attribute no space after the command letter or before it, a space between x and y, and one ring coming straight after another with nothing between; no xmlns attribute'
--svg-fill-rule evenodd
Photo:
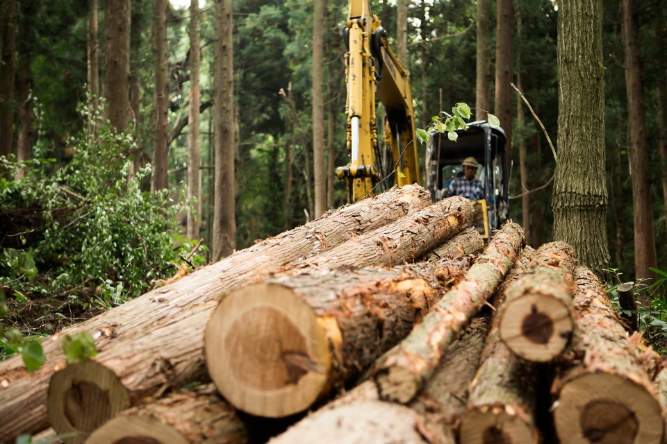
<svg viewBox="0 0 667 444"><path fill-rule="evenodd" d="M461 162L475 157L479 163L477 178L484 186L484 198L475 205L473 225L483 239L488 240L491 230L500 228L509 215L509 174L505 152L505 133L493 128L487 121L468 123L468 130L456 132L459 138L450 141L447 134L434 131L427 146L427 189L436 202L447 197L450 182L463 174Z"/></svg>

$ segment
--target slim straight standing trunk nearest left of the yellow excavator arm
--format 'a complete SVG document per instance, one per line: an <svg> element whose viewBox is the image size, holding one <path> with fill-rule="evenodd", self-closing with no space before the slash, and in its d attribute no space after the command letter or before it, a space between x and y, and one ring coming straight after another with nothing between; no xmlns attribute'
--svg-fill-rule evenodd
<svg viewBox="0 0 667 444"><path fill-rule="evenodd" d="M324 174L324 99L322 97L322 62L324 61L322 24L324 0L313 0L313 182L317 219L327 210L327 176Z"/></svg>

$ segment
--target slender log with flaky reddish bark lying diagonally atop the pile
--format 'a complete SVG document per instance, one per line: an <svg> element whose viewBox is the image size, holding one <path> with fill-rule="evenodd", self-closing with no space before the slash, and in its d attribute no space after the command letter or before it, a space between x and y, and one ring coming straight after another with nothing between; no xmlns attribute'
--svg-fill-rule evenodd
<svg viewBox="0 0 667 444"><path fill-rule="evenodd" d="M524 240L519 225L505 223L466 279L443 296L406 339L384 355L382 364L374 370L382 399L406 403L425 386L443 352L507 274Z"/></svg>

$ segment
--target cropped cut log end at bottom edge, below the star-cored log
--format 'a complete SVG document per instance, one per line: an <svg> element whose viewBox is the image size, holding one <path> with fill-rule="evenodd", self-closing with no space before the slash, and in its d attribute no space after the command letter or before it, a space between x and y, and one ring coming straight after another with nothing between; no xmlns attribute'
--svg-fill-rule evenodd
<svg viewBox="0 0 667 444"><path fill-rule="evenodd" d="M481 406L463 416L459 441L470 444L537 443L538 433L509 406Z"/></svg>

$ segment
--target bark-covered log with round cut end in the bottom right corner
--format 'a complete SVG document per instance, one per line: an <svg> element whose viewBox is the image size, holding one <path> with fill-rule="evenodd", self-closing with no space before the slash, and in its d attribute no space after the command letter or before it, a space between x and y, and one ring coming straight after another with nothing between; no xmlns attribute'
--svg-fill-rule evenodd
<svg viewBox="0 0 667 444"><path fill-rule="evenodd" d="M556 431L566 443L661 443L664 416L657 394L609 305L604 287L575 269L575 334L552 391ZM637 337L637 336L635 336Z"/></svg>

